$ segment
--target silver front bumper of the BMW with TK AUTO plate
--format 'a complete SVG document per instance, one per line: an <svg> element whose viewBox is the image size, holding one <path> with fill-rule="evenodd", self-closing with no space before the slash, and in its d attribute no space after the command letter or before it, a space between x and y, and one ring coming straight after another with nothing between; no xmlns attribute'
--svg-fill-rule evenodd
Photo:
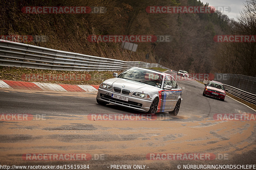
<svg viewBox="0 0 256 170"><path fill-rule="evenodd" d="M112 98L112 94L116 94L118 96L122 96L122 97L128 97L129 100L128 101L124 101L124 100L119 100L119 99L115 99ZM105 90L102 88L99 88L98 92L97 92L97 99L100 101L104 101L104 102L108 102L108 103L112 103L115 105L119 105L119 106L123 106L123 107L128 107L128 108L132 108L135 110L139 110L141 112L148 112L152 101L151 100L145 100L145 99L140 99L137 97L133 97L133 96L126 96L123 95L121 93L116 93L116 92L112 92L109 90Z"/></svg>

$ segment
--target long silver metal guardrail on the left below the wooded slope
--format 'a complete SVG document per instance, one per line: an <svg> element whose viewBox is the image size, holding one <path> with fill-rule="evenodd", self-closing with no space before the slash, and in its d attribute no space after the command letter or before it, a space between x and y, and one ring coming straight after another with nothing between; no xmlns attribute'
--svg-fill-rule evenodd
<svg viewBox="0 0 256 170"><path fill-rule="evenodd" d="M12 41L0 40L0 65L68 71L116 71L130 67L163 67L157 63L128 62Z"/></svg>

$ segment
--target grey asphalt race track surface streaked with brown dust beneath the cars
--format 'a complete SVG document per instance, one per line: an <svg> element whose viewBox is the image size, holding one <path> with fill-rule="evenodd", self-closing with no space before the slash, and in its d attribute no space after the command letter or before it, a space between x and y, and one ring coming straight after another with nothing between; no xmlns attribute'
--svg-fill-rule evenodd
<svg viewBox="0 0 256 170"><path fill-rule="evenodd" d="M89 120L90 114L141 114L112 104L101 106L95 93L0 89L1 114L34 116L32 121L0 122L0 164L79 164L90 169L111 169L111 165L145 165L145 169L178 169L181 165L183 169L188 164L255 164L255 121L217 121L213 117L256 112L229 97L225 101L204 97L204 85L196 81L178 80L178 84L183 98L179 114L160 113L154 121ZM92 159L28 161L22 157L26 153L87 153ZM211 153L215 158L148 160L148 153ZM98 159L100 154L102 158Z"/></svg>

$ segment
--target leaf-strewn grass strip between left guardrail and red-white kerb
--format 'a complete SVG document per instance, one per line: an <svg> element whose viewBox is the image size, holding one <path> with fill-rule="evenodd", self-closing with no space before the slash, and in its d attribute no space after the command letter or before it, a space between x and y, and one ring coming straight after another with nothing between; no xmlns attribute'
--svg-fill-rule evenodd
<svg viewBox="0 0 256 170"><path fill-rule="evenodd" d="M77 85L99 85L122 71L60 71L0 66L0 79Z"/></svg>

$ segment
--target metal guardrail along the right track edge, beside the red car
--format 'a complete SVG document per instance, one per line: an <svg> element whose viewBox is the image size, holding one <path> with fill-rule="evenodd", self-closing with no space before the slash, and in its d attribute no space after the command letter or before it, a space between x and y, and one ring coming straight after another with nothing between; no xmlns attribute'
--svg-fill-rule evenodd
<svg viewBox="0 0 256 170"><path fill-rule="evenodd" d="M209 80L203 80L201 82L203 82L204 84L207 84L209 82ZM228 93L230 93L240 99L243 99L249 103L256 105L256 94L245 92L244 90L238 89L231 85L226 85L226 84L223 84L223 85L224 85L225 89L228 90Z"/></svg>

